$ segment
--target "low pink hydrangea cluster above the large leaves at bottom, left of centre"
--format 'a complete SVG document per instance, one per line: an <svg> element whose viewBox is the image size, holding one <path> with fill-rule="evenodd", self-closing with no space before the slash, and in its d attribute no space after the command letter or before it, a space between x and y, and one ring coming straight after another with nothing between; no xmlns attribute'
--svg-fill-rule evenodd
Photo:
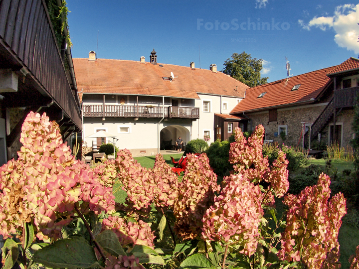
<svg viewBox="0 0 359 269"><path fill-rule="evenodd" d="M121 246L128 244L144 245L153 248L155 236L147 222L139 220L138 223L126 221L123 218L109 216L102 221L103 230L112 230L121 243Z"/></svg>

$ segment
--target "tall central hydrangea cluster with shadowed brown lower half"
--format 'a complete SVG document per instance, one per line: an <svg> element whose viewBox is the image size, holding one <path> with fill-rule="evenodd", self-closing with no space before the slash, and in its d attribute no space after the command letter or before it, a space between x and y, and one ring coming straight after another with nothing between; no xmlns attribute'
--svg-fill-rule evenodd
<svg viewBox="0 0 359 269"><path fill-rule="evenodd" d="M186 170L174 205L175 229L184 240L201 234L203 215L213 204L214 192L219 192L216 182L217 176L205 153L199 156L187 154Z"/></svg>

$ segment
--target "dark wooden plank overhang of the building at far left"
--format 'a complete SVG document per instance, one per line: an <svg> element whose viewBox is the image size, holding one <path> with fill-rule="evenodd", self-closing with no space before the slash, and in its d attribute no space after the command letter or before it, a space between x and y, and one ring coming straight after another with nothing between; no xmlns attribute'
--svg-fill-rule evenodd
<svg viewBox="0 0 359 269"><path fill-rule="evenodd" d="M18 76L17 91L0 93L3 117L9 108L25 111L18 126L6 135L7 146L20 133L30 111L46 112L52 121L65 118L74 126L70 130L81 130L74 82L66 75L44 1L33 0L32 5L26 0L0 1L0 69Z"/></svg>

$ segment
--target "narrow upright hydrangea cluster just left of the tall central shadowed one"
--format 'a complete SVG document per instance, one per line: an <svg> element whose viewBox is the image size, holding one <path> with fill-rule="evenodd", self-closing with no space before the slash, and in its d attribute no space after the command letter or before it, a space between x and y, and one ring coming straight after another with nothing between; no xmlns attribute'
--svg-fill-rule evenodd
<svg viewBox="0 0 359 269"><path fill-rule="evenodd" d="M173 206L178 197L178 177L161 154L156 155L154 173L154 202L158 207Z"/></svg>

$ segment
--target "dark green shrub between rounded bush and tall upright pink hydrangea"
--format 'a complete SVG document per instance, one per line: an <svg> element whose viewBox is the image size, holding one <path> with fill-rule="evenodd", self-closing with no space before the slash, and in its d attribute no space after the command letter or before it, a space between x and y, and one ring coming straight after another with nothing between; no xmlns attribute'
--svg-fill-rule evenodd
<svg viewBox="0 0 359 269"><path fill-rule="evenodd" d="M206 150L209 165L218 177L229 175L229 172L233 169L233 164L228 160L229 146L229 141L217 140L211 143Z"/></svg>

